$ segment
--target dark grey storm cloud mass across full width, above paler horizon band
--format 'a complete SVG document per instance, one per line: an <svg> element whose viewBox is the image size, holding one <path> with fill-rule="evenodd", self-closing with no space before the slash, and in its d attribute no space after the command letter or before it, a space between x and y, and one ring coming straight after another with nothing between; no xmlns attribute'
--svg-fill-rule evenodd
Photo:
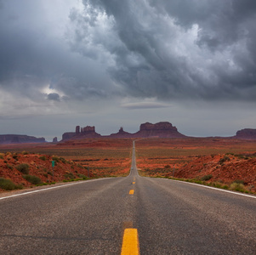
<svg viewBox="0 0 256 255"><path fill-rule="evenodd" d="M3 91L34 100L46 87L74 100L255 100L255 1L82 4L60 31L45 10L61 15L54 3L0 0Z"/></svg>

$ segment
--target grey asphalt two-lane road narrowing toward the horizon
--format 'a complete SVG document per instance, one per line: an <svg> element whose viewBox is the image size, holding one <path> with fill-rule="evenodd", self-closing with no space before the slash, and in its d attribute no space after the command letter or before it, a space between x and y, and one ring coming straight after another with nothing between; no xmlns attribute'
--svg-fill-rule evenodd
<svg viewBox="0 0 256 255"><path fill-rule="evenodd" d="M134 194L129 194L134 190ZM0 197L0 254L256 254L256 196L163 178L103 178ZM22 194L22 195L19 195Z"/></svg>

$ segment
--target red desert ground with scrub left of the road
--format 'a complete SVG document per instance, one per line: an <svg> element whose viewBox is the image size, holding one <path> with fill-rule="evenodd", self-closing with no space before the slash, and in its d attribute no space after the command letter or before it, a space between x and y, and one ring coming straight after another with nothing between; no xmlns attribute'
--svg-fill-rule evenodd
<svg viewBox="0 0 256 255"><path fill-rule="evenodd" d="M0 178L9 178L14 184L31 187L32 184L23 177L24 173L16 168L23 163L29 166L30 175L41 178L46 184L88 178L88 170L90 178L126 176L131 165L131 148L131 139L83 139L57 145L2 145Z"/></svg>

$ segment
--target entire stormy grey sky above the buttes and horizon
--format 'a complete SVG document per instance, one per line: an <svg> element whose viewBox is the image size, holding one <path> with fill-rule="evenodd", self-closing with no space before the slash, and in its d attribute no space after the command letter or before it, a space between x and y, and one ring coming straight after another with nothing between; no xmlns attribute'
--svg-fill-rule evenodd
<svg viewBox="0 0 256 255"><path fill-rule="evenodd" d="M256 128L255 0L0 0L0 133Z"/></svg>

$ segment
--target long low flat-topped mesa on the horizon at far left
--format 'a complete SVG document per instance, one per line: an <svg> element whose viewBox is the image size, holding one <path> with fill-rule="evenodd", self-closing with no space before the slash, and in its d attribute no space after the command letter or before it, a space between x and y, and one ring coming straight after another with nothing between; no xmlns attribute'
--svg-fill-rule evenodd
<svg viewBox="0 0 256 255"><path fill-rule="evenodd" d="M0 144L45 143L45 139L23 134L0 134Z"/></svg>

